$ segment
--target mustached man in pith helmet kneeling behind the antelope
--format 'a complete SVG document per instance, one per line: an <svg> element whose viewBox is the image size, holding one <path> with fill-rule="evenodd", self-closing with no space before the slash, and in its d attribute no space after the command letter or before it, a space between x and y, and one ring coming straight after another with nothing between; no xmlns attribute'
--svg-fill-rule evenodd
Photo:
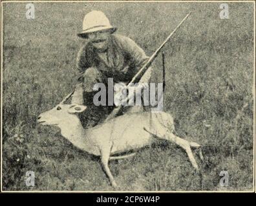
<svg viewBox="0 0 256 206"><path fill-rule="evenodd" d="M93 96L98 92L93 90L94 85L107 85L108 78L127 84L149 59L138 44L129 37L113 34L115 31L103 12L92 11L85 15L83 31L78 33L86 41L78 52L80 77L71 103L87 105L88 109L80 117L84 127L98 124L113 109L113 106L93 104ZM140 82L149 82L150 77L149 68Z"/></svg>

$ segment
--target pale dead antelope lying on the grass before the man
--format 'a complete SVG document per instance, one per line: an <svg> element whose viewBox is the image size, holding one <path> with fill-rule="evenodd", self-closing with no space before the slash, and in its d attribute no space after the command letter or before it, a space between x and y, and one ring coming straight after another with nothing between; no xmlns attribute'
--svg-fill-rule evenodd
<svg viewBox="0 0 256 206"><path fill-rule="evenodd" d="M111 155L140 149L151 145L158 138L180 145L185 149L193 167L198 170L191 147L200 148L200 145L174 135L173 118L168 113L127 113L112 118L109 122L84 129L76 113L83 112L87 107L64 102L65 100L55 108L41 113L37 122L41 125L58 126L61 135L76 147L100 156L103 169L113 187L117 187L117 184L109 169L109 160L115 159Z"/></svg>

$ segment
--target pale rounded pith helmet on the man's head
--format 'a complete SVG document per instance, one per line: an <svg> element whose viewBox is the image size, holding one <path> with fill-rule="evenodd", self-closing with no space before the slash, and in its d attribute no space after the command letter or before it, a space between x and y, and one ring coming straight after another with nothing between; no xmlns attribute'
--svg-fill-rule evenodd
<svg viewBox="0 0 256 206"><path fill-rule="evenodd" d="M109 19L107 19L103 12L92 11L85 15L83 19L83 32L78 33L78 37L87 38L88 33L102 30L110 30L113 33L116 31L116 28L111 26Z"/></svg>

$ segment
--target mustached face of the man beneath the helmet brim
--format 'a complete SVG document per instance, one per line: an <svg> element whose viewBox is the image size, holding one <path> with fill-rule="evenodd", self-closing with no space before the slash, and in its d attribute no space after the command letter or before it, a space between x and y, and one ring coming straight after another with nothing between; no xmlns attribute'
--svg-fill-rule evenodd
<svg viewBox="0 0 256 206"><path fill-rule="evenodd" d="M92 32L88 34L88 40L97 50L105 51L107 49L110 35L110 31Z"/></svg>

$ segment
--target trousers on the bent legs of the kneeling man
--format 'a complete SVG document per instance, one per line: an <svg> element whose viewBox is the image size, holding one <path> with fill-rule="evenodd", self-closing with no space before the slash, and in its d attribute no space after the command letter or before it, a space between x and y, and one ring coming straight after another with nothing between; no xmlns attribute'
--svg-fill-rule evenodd
<svg viewBox="0 0 256 206"><path fill-rule="evenodd" d="M81 79L82 81L77 84L72 95L71 104L86 105L87 109L83 113L80 113L81 123L83 124L83 127L95 126L105 120L112 109L114 109L114 106L95 106L93 104L93 97L98 93L98 91L93 90L94 85L96 83L103 83L107 86L107 77L97 68L91 67L83 73ZM140 79L140 83L149 83L150 79L151 68L144 73ZM120 113L135 113L141 112L144 109L143 106L125 106Z"/></svg>

